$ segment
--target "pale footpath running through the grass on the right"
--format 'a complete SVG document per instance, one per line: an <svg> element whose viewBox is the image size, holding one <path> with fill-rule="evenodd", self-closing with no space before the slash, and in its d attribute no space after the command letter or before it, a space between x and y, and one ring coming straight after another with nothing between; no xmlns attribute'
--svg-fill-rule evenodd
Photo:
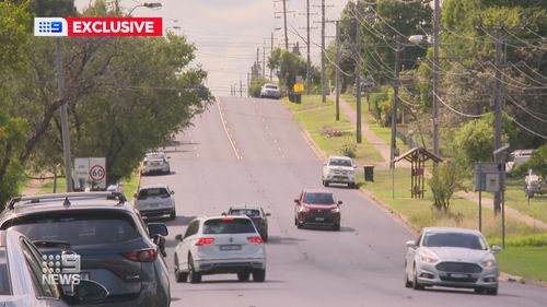
<svg viewBox="0 0 547 307"><path fill-rule="evenodd" d="M335 97L331 97L331 98L335 99ZM340 97L340 110L344 113L346 118L349 119L351 125L353 127L357 127L357 119L356 119L357 111L354 109L352 109L351 106L346 101L344 101L341 97ZM362 121L361 131L362 131L362 135L366 140L369 140L369 142L372 144L372 146L374 146L374 149L380 152L382 157L384 157L384 162L382 164L377 165L379 168L386 169L389 166L389 158L391 158L389 145L384 140L379 138L376 135L376 133L374 133L374 131L372 131L371 127L369 126L369 123L366 121ZM397 166L398 167L410 167L410 164L408 162L404 162L404 163L399 162L396 164L396 167ZM470 200L470 201L477 203L477 205L479 203L478 193L469 192L469 191L468 192L459 191L456 194L461 198L464 198L464 199L467 199L467 200ZM490 210L493 210L493 201L491 199L482 198L482 208L488 208ZM539 221L537 219L534 219L532 216L522 214L521 212L512 209L511 206L509 206L507 204L505 204L505 215L511 216L512 219L520 221L522 223L525 223L529 226L535 226L536 228L540 228L540 229L547 232L547 224L546 223L544 223L543 221Z"/></svg>

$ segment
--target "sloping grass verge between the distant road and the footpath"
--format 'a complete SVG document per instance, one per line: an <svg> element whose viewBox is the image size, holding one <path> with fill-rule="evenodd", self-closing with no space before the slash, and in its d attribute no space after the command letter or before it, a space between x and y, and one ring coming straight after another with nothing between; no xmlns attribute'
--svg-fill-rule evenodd
<svg viewBox="0 0 547 307"><path fill-rule="evenodd" d="M326 104L322 104L319 95L302 96L302 104L293 104L283 99L283 104L293 113L296 121L304 126L310 132L314 142L327 155L340 155L340 149L346 143L356 144L356 132L349 120L340 114L340 120L335 119L335 105L327 98ZM322 133L325 127L342 131L342 137L327 137ZM361 144L356 146L356 163L359 165L382 163L382 155L374 146L363 139Z"/></svg>

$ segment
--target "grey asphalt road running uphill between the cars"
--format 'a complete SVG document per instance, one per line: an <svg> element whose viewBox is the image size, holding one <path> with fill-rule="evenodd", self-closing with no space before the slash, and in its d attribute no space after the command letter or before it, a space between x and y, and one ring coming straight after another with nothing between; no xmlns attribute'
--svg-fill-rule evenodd
<svg viewBox="0 0 547 307"><path fill-rule="evenodd" d="M166 221L172 306L547 305L546 288L503 282L498 296L405 288L405 241L414 236L356 190L331 188L344 201L340 232L298 229L293 199L304 187L321 187L322 161L278 101L221 98L166 152L172 174L142 180L175 191L178 216ZM220 214L234 204L259 204L272 215L266 282L228 274L176 283L175 235L193 216Z"/></svg>

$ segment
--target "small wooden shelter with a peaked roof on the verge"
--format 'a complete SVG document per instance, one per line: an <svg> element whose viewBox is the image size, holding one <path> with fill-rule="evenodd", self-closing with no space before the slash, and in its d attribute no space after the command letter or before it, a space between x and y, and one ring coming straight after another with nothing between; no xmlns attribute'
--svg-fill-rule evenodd
<svg viewBox="0 0 547 307"><path fill-rule="evenodd" d="M442 162L442 158L429 152L423 147L414 147L401 154L394 162L406 160L410 162L410 194L412 198L423 198L426 191L426 162L431 160L435 163Z"/></svg>

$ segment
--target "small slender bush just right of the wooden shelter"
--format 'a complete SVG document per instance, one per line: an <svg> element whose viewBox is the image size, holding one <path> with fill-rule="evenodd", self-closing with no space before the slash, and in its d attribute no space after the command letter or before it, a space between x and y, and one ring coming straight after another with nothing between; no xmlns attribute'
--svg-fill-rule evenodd
<svg viewBox="0 0 547 307"><path fill-rule="evenodd" d="M461 187L461 170L455 162L438 165L433 169L433 177L428 180L433 193L433 209L437 212L447 214L452 196Z"/></svg>

